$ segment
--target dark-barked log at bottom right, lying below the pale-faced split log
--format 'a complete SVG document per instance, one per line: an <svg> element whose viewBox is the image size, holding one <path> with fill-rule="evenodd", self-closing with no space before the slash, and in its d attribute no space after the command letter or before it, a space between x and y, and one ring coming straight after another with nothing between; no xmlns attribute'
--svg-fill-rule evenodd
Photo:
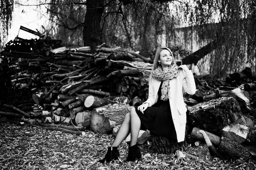
<svg viewBox="0 0 256 170"><path fill-rule="evenodd" d="M222 137L218 151L223 155L227 155L230 159L247 159L250 156L249 149L238 144L236 141L231 141L226 137Z"/></svg>

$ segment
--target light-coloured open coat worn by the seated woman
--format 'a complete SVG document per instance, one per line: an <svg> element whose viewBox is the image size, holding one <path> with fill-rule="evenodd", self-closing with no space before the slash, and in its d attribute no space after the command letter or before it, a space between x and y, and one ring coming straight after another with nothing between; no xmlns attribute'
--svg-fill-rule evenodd
<svg viewBox="0 0 256 170"><path fill-rule="evenodd" d="M155 78L151 78L148 88L148 99L144 103L148 103L149 107L157 102L158 90L161 82ZM184 103L182 88L191 95L195 94L195 80L192 71L183 70L180 74L170 80L170 107L173 118L173 124L177 134L177 141L184 141L186 128L186 104Z"/></svg>

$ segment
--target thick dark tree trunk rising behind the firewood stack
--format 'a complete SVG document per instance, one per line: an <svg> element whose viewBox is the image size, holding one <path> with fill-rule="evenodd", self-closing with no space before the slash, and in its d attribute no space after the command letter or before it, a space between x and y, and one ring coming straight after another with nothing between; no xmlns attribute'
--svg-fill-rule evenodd
<svg viewBox="0 0 256 170"><path fill-rule="evenodd" d="M94 51L95 46L101 44L101 16L103 15L103 0L86 1L87 8L83 27L83 44L90 46Z"/></svg>

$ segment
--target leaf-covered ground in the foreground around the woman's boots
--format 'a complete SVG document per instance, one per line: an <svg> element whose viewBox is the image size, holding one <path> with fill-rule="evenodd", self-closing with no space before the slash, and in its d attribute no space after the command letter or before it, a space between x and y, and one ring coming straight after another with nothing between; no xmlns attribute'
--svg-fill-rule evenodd
<svg viewBox="0 0 256 170"><path fill-rule="evenodd" d="M236 161L212 159L207 162L182 158L177 161L174 155L154 153L148 144L140 146L141 160L127 163L124 160L128 145L124 142L119 147L119 160L98 163L113 139L112 135L92 131L86 131L85 135L70 135L27 124L0 122L0 170L256 169L256 162L251 158Z"/></svg>

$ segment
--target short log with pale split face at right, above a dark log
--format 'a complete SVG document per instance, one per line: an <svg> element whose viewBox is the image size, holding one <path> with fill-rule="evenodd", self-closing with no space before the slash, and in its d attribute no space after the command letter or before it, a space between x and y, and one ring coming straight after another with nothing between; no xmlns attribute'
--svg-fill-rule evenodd
<svg viewBox="0 0 256 170"><path fill-rule="evenodd" d="M240 124L227 125L222 129L222 136L242 144L246 141L249 128Z"/></svg>

